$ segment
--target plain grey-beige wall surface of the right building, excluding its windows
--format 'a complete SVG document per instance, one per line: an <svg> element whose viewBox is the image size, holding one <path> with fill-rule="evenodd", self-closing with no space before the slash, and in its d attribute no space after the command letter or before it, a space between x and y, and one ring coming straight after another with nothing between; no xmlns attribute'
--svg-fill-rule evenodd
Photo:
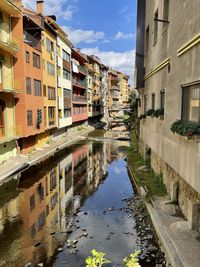
<svg viewBox="0 0 200 267"><path fill-rule="evenodd" d="M158 18L163 18L164 1L146 1L145 29L149 27L149 49L145 54L145 88L141 93L144 112L144 96L147 97L147 109L151 109L151 94L155 94L155 109L160 108L160 92L165 90L164 120L147 117L140 125L140 139L150 147L154 154L163 161L178 180L182 193L180 202L185 202L185 189L199 201L200 194L200 142L198 138L188 140L173 134L170 127L174 121L181 119L182 85L200 81L200 42L190 47L184 54L178 55L178 49L200 33L200 2L169 1L169 24L158 22L158 38L154 42L154 14L158 9ZM160 63L168 59L168 63L156 70ZM155 164L154 164L155 168ZM174 175L173 175L174 176ZM165 183L170 192L170 173ZM173 179L172 179L173 180ZM187 186L185 186L187 185ZM185 196L185 200L183 201ZM187 207L182 204L187 215Z"/></svg>

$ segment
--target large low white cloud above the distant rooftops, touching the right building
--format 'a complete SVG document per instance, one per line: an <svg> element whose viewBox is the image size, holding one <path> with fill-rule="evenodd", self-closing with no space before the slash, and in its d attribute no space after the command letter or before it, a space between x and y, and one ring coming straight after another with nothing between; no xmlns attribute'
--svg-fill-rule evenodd
<svg viewBox="0 0 200 267"><path fill-rule="evenodd" d="M135 50L126 52L100 51L98 47L93 47L83 48L81 51L87 55L96 55L103 64L129 75L129 83L133 84Z"/></svg>

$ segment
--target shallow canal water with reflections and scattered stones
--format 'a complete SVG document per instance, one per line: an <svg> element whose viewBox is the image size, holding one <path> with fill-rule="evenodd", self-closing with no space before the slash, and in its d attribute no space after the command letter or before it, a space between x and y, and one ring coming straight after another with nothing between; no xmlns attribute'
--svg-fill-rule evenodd
<svg viewBox="0 0 200 267"><path fill-rule="evenodd" d="M0 266L84 267L93 248L114 266L135 250L145 255L124 145L92 136L3 184ZM142 267L156 266L143 258Z"/></svg>

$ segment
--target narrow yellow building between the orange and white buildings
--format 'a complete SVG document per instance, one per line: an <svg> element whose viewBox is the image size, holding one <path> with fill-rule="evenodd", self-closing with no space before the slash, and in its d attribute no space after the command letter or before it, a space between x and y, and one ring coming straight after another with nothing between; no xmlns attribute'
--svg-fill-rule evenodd
<svg viewBox="0 0 200 267"><path fill-rule="evenodd" d="M57 127L57 72L56 72L57 34L52 19L45 17L42 42L44 125L49 130Z"/></svg>

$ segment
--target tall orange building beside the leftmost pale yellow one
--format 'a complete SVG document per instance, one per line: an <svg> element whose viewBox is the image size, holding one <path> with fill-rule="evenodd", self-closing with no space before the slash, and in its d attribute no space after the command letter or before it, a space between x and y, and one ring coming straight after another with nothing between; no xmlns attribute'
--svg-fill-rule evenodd
<svg viewBox="0 0 200 267"><path fill-rule="evenodd" d="M44 99L42 92L42 47L43 18L24 8L22 26L18 29L21 53L15 65L15 79L21 89L16 101L16 125L21 133L18 140L23 152L34 148L36 135L44 132ZM19 66L20 65L20 66Z"/></svg>

